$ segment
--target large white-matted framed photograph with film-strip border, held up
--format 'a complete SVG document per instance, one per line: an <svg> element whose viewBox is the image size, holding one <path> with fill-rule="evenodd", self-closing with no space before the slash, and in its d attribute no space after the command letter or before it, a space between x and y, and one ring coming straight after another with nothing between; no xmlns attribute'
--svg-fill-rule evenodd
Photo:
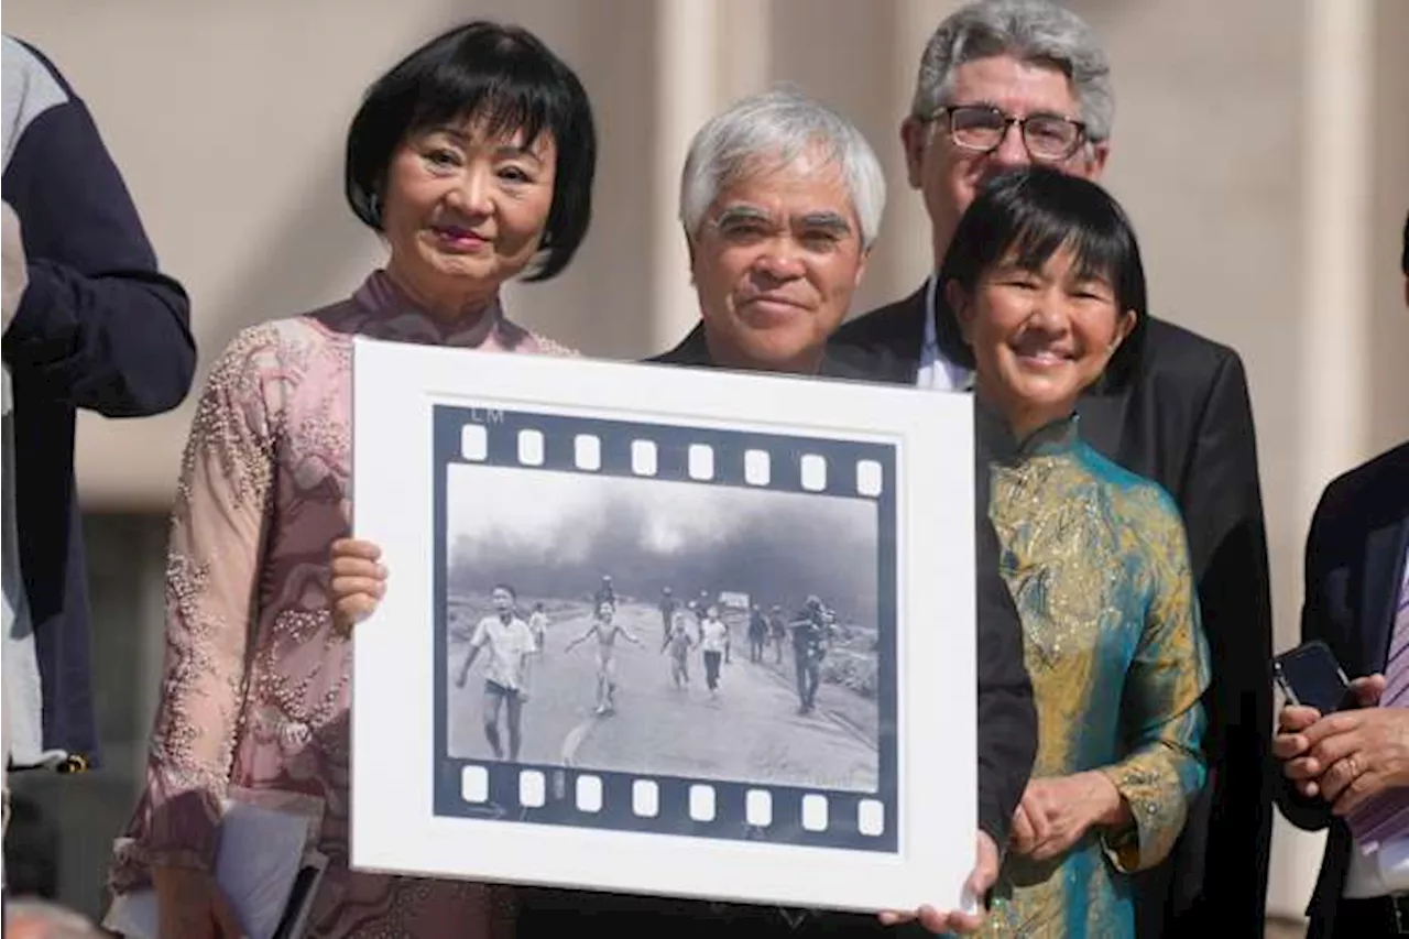
<svg viewBox="0 0 1409 939"><path fill-rule="evenodd" d="M955 908L972 402L358 338L361 870Z"/></svg>

